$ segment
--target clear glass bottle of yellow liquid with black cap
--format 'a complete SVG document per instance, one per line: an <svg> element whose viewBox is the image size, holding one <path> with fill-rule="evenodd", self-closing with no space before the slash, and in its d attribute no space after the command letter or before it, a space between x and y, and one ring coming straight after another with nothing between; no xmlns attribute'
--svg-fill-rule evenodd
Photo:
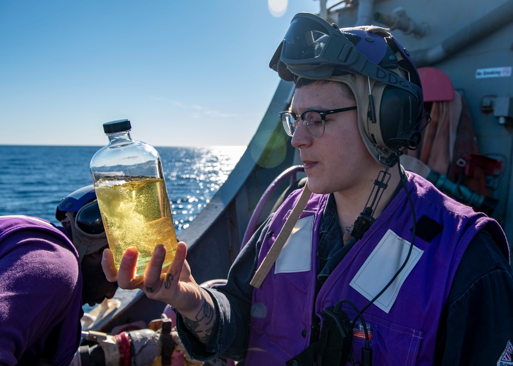
<svg viewBox="0 0 513 366"><path fill-rule="evenodd" d="M90 169L109 247L119 269L125 249L139 250L136 274L144 274L155 246L173 260L176 233L159 153L130 136L129 119L103 124L109 144L91 159Z"/></svg>

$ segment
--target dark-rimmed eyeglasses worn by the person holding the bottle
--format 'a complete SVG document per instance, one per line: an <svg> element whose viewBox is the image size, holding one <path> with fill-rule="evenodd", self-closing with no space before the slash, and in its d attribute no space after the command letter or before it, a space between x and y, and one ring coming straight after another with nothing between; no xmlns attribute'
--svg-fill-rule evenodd
<svg viewBox="0 0 513 366"><path fill-rule="evenodd" d="M311 109L304 111L300 116L289 111L280 112L278 115L282 119L283 128L287 135L294 135L295 129L298 128L299 119L301 119L303 120L306 132L313 137L321 137L324 134L324 121L328 114L351 111L353 109L357 109L357 106L329 109L325 111Z"/></svg>

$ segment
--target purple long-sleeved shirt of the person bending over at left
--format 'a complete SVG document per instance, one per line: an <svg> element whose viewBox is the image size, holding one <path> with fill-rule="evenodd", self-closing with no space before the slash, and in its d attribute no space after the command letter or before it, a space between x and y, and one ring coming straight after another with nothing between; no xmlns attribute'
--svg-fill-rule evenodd
<svg viewBox="0 0 513 366"><path fill-rule="evenodd" d="M81 296L81 287L74 253L55 236L25 230L3 240L0 246L0 365L30 362L43 352L53 357L48 347L45 348L45 342L50 331L61 322L68 322L68 317L78 318L76 326L80 324L78 310L73 308L76 308L77 296ZM80 328L76 331L80 332ZM69 344L64 344L68 354L74 353L77 346L76 334L70 334L69 338ZM69 359L69 355L66 357Z"/></svg>

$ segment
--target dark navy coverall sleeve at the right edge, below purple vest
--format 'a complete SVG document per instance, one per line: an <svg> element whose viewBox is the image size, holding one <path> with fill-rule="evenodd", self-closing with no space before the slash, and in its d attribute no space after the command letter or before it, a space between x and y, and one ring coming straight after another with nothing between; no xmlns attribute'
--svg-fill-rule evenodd
<svg viewBox="0 0 513 366"><path fill-rule="evenodd" d="M490 234L480 231L465 251L452 283L440 319L435 364L507 365L513 340L512 309L510 263Z"/></svg>

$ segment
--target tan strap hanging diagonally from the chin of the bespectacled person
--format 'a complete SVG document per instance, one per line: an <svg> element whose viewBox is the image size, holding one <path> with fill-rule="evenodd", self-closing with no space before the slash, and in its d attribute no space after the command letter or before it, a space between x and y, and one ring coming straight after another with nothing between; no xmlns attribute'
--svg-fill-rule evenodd
<svg viewBox="0 0 513 366"><path fill-rule="evenodd" d="M303 188L303 192L301 193L301 196L299 197L297 204L295 204L294 208L292 209L292 212L290 213L290 216L285 221L285 225L283 226L282 230L278 234L278 237L272 244L271 249L269 249L269 252L260 264L260 267L258 268L257 272L255 272L253 278L251 279L251 282L249 282L249 284L254 288L260 288L260 285L264 281L265 276L267 276L267 273L269 272L272 265L278 258L278 255L280 254L281 250L283 249L283 246L285 245L285 242L287 241L290 233L292 232L295 223L298 221L299 216L301 216L301 213L305 209L306 202L308 202L308 199L310 198L311 194L312 192L308 188L308 182L306 182L306 185Z"/></svg>

